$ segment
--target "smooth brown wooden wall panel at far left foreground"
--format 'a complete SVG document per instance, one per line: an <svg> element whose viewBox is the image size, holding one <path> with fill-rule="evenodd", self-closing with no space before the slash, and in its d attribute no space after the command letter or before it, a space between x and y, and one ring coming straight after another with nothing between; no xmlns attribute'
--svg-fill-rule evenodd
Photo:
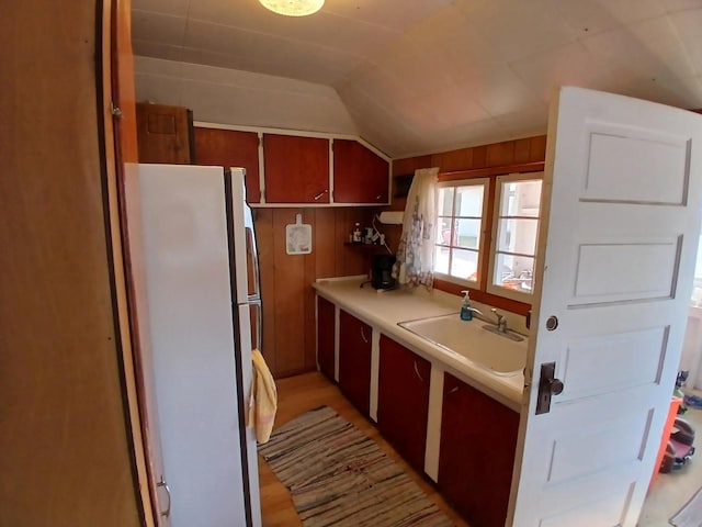
<svg viewBox="0 0 702 527"><path fill-rule="evenodd" d="M2 526L140 524L106 257L95 3L10 1L0 16Z"/></svg>

